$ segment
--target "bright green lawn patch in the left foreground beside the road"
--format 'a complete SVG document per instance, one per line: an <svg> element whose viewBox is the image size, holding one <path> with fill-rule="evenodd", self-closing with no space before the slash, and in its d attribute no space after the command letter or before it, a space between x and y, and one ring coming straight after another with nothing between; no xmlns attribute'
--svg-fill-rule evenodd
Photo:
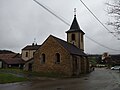
<svg viewBox="0 0 120 90"><path fill-rule="evenodd" d="M26 81L27 78L12 74L0 73L0 84Z"/></svg>

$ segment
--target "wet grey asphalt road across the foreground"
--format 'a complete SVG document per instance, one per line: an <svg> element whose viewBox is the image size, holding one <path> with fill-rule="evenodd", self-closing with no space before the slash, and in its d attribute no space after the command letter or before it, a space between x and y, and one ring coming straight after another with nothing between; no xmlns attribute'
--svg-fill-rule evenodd
<svg viewBox="0 0 120 90"><path fill-rule="evenodd" d="M96 68L81 78L39 78L32 82L0 84L0 90L120 90L120 72Z"/></svg>

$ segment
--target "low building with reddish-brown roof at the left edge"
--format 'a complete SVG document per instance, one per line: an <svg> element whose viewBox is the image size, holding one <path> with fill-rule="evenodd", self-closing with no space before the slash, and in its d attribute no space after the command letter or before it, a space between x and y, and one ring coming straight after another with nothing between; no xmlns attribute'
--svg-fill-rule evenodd
<svg viewBox="0 0 120 90"><path fill-rule="evenodd" d="M0 54L0 68L23 68L25 62L21 59L20 54L9 53Z"/></svg>

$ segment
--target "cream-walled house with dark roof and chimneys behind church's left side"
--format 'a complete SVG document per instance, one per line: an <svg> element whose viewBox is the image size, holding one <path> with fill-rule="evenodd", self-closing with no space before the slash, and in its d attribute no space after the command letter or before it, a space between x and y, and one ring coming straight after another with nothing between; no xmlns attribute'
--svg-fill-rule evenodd
<svg viewBox="0 0 120 90"><path fill-rule="evenodd" d="M29 59L33 58L34 52L38 50L40 45L37 44L32 44L32 45L27 45L22 49L22 59L24 61L28 61Z"/></svg>

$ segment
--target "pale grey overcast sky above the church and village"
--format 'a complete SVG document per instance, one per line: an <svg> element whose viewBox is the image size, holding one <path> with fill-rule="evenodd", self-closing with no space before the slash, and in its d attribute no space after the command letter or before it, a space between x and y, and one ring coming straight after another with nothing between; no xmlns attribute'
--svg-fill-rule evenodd
<svg viewBox="0 0 120 90"><path fill-rule="evenodd" d="M38 0L49 7L69 24L72 23L77 9L77 20L85 35L116 50L120 50L120 40L110 34L83 6L80 0ZM105 24L109 20L105 3L109 0L83 0L89 9ZM112 27L107 26L111 31ZM21 53L21 49L32 44L34 38L42 44L50 35L66 40L70 27L33 0L0 0L0 49ZM85 36L85 52L89 54L120 53L99 46Z"/></svg>

